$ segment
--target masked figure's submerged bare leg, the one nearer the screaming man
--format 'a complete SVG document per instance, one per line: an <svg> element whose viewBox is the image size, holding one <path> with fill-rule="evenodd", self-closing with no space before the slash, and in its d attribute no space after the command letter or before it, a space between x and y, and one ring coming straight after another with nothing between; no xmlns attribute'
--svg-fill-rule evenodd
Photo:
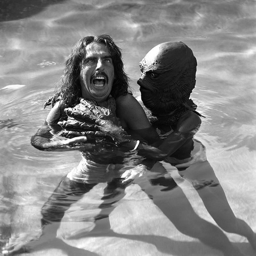
<svg viewBox="0 0 256 256"><path fill-rule="evenodd" d="M199 239L202 243L220 250L225 256L243 255L220 228L196 214L180 187L170 184L168 187L172 189L166 189L166 182L163 185L152 184L153 186L148 186L141 182L139 185L181 233Z"/></svg>

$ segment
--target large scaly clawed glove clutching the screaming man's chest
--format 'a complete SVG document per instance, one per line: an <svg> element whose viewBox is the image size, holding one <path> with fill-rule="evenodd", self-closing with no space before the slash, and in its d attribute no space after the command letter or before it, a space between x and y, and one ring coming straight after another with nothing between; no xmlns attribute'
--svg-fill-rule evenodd
<svg viewBox="0 0 256 256"><path fill-rule="evenodd" d="M102 103L81 98L74 108L65 108L68 119L58 123L64 129L61 135L67 138L84 135L88 140L96 141L105 138L116 145L129 142L131 136L124 131L115 116L115 106L112 97Z"/></svg>

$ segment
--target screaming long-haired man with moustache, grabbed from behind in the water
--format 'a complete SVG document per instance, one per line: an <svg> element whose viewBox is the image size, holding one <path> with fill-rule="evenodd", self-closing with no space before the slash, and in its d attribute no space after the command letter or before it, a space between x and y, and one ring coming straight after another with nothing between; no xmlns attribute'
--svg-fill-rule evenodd
<svg viewBox="0 0 256 256"><path fill-rule="evenodd" d="M116 188L124 192L124 188L129 183L122 183L123 179L120 178L122 173L139 165L142 161L141 156L134 156L135 149L139 144L140 147L153 148L139 140L133 140L124 129L136 130L137 134L148 139L149 142L159 138L140 103L128 90L128 76L124 73L120 49L110 36L85 36L75 44L68 56L54 95L57 102L55 100L56 103L50 110L44 125L32 136L31 144L40 150L80 150L82 160L61 180L52 196L42 207L43 234L40 239L25 244L10 241L3 250L4 255L28 251L41 244L44 241L42 237L46 240L55 238L65 211L96 184L107 182L108 186L105 191L108 194L113 193ZM81 132L79 135L82 136L78 137L73 137L76 131L71 131L67 136L68 139L64 137L60 139L58 136L58 140L52 140L54 134L62 130L62 125L67 127L65 124L70 121L67 114L69 111L77 110L78 105L89 111L87 113L89 118L95 116L99 130ZM111 111L108 112L108 109ZM94 124L90 124L88 129L92 126L95 129ZM83 124L83 127L88 127L88 125ZM108 138L104 138L109 130L106 127L113 128L107 134ZM102 143L94 143L95 139L97 141L99 138ZM114 150L104 147L106 141L107 144L111 143L111 139L114 145L119 146L114 146ZM134 150L129 152L129 149ZM54 226L55 233L45 236L46 227L51 226Z"/></svg>

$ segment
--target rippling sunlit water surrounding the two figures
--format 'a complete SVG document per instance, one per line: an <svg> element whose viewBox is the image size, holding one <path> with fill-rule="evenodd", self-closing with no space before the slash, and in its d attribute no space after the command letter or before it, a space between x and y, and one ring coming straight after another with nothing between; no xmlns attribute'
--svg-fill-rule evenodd
<svg viewBox="0 0 256 256"><path fill-rule="evenodd" d="M40 227L41 206L60 178L80 161L79 152L40 152L30 145L30 137L49 111L49 108L43 110L44 100L51 95L72 45L81 36L100 33L110 34L123 49L134 95L139 95L138 63L153 46L183 41L193 50L198 67L192 98L198 111L207 117L196 138L206 146L207 158L234 212L256 231L255 1L21 0L19 3L1 1L0 5L0 233L3 239ZM97 194L101 191L100 186L94 189L84 202L97 205ZM124 207L117 207L110 218L115 232L127 230L130 235L145 234L145 237L155 232L172 238L172 242L154 238L158 240L152 244L146 238L140 242L134 238L136 242L129 244L131 240L122 236L119 240L108 236L102 240L87 238L83 243L87 243L88 255L192 255L191 248L193 255L221 255L179 233L159 215L154 205L141 203L147 201L147 196L136 186L127 189L125 198ZM82 203L76 207L81 208ZM213 222L200 202L196 211ZM135 224L126 221L130 214ZM159 220L161 225L151 225ZM231 234L228 237L241 250L253 255L244 238ZM103 252L100 246L91 245L95 241L105 243ZM184 245L184 241L192 245ZM75 240L67 243L79 247ZM122 247L124 254L117 251L122 243L127 244ZM40 253L52 255L49 249L35 255Z"/></svg>

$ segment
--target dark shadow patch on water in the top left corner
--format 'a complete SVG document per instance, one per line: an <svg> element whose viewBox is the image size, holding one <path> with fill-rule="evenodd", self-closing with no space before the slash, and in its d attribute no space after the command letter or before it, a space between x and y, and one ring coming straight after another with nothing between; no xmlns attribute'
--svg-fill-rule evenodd
<svg viewBox="0 0 256 256"><path fill-rule="evenodd" d="M0 21L19 20L44 10L50 4L64 0L1 0Z"/></svg>

